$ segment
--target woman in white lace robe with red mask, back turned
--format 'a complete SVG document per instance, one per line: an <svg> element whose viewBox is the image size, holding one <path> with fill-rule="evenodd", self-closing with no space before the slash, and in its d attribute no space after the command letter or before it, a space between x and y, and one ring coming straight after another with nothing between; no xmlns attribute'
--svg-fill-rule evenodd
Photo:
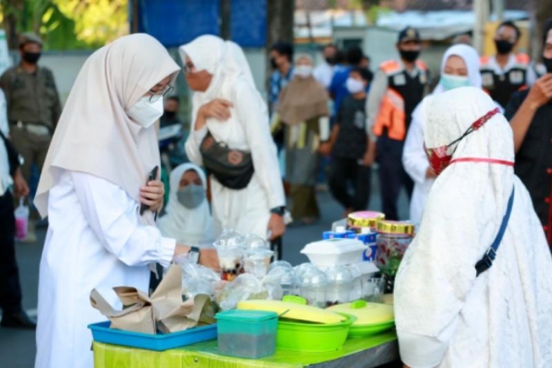
<svg viewBox="0 0 552 368"><path fill-rule="evenodd" d="M451 144L495 108L480 88L430 97L426 147ZM395 279L402 361L412 368L552 367L551 253L513 172L511 128L497 113L448 153L453 160L433 184ZM513 189L496 258L476 277L475 264L497 237Z"/></svg>

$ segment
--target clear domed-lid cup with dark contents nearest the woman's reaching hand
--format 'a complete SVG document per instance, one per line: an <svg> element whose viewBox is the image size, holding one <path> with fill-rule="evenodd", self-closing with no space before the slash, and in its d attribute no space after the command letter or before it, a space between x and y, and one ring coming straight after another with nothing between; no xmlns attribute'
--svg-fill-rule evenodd
<svg viewBox="0 0 552 368"><path fill-rule="evenodd" d="M244 236L237 231L223 230L213 244L217 249L222 280L234 280L243 271Z"/></svg>

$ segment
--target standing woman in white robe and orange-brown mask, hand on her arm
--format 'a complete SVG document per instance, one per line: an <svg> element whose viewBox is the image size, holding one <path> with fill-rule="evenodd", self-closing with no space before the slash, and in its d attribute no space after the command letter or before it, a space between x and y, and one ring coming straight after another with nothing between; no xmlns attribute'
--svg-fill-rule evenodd
<svg viewBox="0 0 552 368"><path fill-rule="evenodd" d="M192 133L186 141L190 161L203 165L199 147L209 132L216 142L248 151L255 173L244 189L223 186L211 175L215 235L235 229L274 239L285 231L284 188L266 103L239 46L201 36L179 48L193 96Z"/></svg>

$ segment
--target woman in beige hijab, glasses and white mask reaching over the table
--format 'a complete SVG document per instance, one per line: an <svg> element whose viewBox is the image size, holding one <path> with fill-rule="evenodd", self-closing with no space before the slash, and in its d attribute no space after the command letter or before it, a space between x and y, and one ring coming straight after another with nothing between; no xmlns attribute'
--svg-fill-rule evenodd
<svg viewBox="0 0 552 368"><path fill-rule="evenodd" d="M148 35L121 37L85 62L50 144L34 204L49 228L39 278L35 367L92 367L87 325L104 320L94 288L147 290L148 264L187 246L155 227L163 187L155 126L179 68ZM140 204L150 211L139 214ZM204 262L215 260L213 252ZM108 298L115 304L115 295Z"/></svg>

